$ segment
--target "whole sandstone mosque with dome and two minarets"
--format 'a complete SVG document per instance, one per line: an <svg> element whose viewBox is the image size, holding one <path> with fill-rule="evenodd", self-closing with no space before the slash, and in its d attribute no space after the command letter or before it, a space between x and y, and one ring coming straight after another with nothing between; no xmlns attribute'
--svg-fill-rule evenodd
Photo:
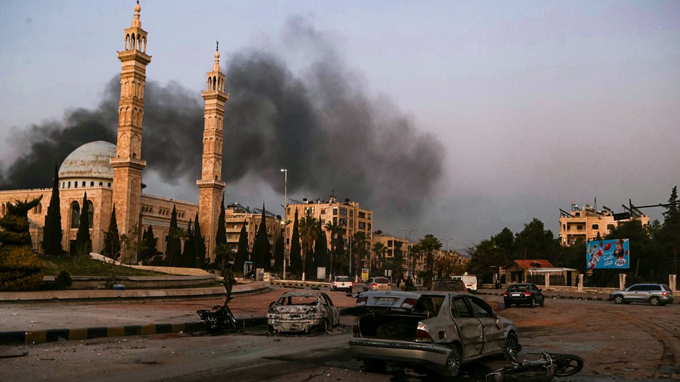
<svg viewBox="0 0 680 382"><path fill-rule="evenodd" d="M208 257L214 259L217 218L222 202L222 124L225 117L225 74L220 71L220 52L215 51L212 71L206 75L205 124L203 127L203 166L198 186L198 204L169 199L142 192L142 171L146 161L142 158L142 120L144 117L144 90L146 68L151 62L147 54L147 32L140 21L140 4L135 5L132 25L125 29L125 49L118 52L122 63L120 71L120 102L118 105L118 132L116 144L94 141L74 150L59 168L59 197L62 216L62 248L71 250L79 225L81 204L87 193L89 204L90 237L94 252L103 248L104 233L108 230L111 211L120 234L134 234L153 227L158 238L157 250L165 253L165 238L170 227L170 215L176 208L178 225L186 228L190 219L198 221ZM52 188L0 191L0 216L6 214L7 204L16 199L33 199L42 195L42 201L31 210L30 233L35 250L41 252L42 228L50 205Z"/></svg>

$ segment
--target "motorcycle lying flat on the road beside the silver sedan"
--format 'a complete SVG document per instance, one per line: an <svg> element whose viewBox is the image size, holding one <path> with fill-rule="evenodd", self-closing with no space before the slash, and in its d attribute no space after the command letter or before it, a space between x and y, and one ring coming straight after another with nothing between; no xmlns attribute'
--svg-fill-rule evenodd
<svg viewBox="0 0 680 382"><path fill-rule="evenodd" d="M543 353L540 358L513 360L506 366L487 374L486 382L550 382L554 377L573 376L583 369L583 359L576 354Z"/></svg>

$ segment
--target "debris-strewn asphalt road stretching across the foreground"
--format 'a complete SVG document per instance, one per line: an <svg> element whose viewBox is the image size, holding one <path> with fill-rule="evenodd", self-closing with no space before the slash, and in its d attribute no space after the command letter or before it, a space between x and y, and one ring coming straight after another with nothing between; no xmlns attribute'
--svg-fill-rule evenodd
<svg viewBox="0 0 680 382"><path fill-rule="evenodd" d="M484 296L502 308L498 296ZM548 300L544 308L507 308L524 346L520 357L567 352L586 363L563 381L680 380L680 306L615 305L604 301ZM329 335L271 336L266 328L217 337L186 334L118 337L4 347L1 381L429 381L414 371L363 371L347 342L353 318ZM502 359L468 364L477 381L506 365ZM557 381L560 381L557 378Z"/></svg>

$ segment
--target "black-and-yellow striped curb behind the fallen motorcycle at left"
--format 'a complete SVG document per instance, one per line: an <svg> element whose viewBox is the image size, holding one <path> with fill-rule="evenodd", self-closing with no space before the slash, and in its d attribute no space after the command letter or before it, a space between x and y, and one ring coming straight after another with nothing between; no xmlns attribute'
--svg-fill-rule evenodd
<svg viewBox="0 0 680 382"><path fill-rule="evenodd" d="M266 325L266 317L237 319L239 328ZM160 335L171 333L205 332L203 326L191 323L157 323L149 325L123 325L94 328L47 329L15 332L0 332L0 345L32 345L42 342L73 340L93 340L105 337L125 337L133 335Z"/></svg>

